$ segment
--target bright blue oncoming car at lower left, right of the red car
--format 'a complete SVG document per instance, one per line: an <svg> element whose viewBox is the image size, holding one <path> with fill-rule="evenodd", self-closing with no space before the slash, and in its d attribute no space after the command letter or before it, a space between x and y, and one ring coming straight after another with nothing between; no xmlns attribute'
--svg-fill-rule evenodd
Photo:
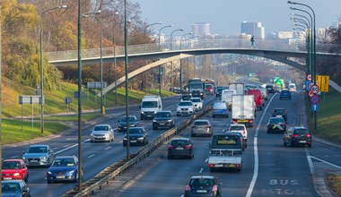
<svg viewBox="0 0 341 197"><path fill-rule="evenodd" d="M55 158L47 172L48 184L54 182L77 182L79 177L78 158L60 156Z"/></svg>

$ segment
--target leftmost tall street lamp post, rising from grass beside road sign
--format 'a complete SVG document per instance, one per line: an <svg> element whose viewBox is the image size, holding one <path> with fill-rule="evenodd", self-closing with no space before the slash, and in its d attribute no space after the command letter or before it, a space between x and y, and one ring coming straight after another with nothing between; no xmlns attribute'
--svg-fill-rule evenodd
<svg viewBox="0 0 341 197"><path fill-rule="evenodd" d="M43 61L43 30L42 21L45 13L52 10L65 9L67 5L59 5L43 11L40 15L40 107L41 107L41 117L40 117L40 132L44 133L44 61Z"/></svg>

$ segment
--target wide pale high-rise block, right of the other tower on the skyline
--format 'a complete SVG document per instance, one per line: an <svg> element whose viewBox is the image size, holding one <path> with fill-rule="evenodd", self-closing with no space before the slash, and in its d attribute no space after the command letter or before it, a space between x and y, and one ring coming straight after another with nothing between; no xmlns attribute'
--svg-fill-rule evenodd
<svg viewBox="0 0 341 197"><path fill-rule="evenodd" d="M255 36L256 39L265 39L266 30L260 21L243 21L240 25L240 33Z"/></svg>

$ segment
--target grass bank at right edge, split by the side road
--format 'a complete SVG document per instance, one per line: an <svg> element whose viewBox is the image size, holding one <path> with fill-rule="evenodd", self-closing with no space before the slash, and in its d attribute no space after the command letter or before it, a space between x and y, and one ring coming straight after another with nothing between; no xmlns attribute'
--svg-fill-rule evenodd
<svg viewBox="0 0 341 197"><path fill-rule="evenodd" d="M341 93L329 89L329 92L319 95L319 111L317 112L317 129L313 133L328 141L341 143ZM313 118L310 117L310 128L313 128ZM312 129L311 129L312 130ZM341 196L341 175L328 174L328 186L333 193Z"/></svg>

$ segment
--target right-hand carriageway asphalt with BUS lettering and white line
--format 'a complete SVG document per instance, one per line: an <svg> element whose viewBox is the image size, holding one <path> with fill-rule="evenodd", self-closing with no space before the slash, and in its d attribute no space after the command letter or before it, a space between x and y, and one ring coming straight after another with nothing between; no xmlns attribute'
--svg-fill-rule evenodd
<svg viewBox="0 0 341 197"><path fill-rule="evenodd" d="M279 100L278 94L272 96L270 94L267 107L258 111L255 126L248 129L248 149L243 153L241 172L211 173L205 163L211 138L190 137L188 129L182 135L194 142L193 159L167 159L167 146L164 146L153 167L145 167L140 176L125 184L115 196L181 196L189 177L197 175L218 176L223 183L223 196L319 196L307 158L321 158L340 167L340 150L317 141L312 148L284 147L283 133L267 133L267 120L273 108L284 107L288 110L287 126L304 124L303 93L293 93L291 100ZM231 122L231 118L212 118L212 113L202 118L210 120L214 133L221 133ZM102 194L96 196L109 196Z"/></svg>

